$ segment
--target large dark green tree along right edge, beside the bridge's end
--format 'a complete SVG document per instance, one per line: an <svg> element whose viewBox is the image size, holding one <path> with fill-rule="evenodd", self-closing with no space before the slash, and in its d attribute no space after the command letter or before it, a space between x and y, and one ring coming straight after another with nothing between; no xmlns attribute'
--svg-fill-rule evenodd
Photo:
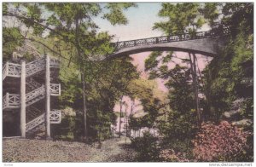
<svg viewBox="0 0 256 167"><path fill-rule="evenodd" d="M221 4L216 4L221 5ZM249 88L242 85L243 78L252 78L249 70L253 64L253 7L251 3L226 3L222 5L220 26L230 27L230 41L204 70L208 118L218 121L230 104L239 97L252 97ZM247 64L245 66L245 64ZM248 111L249 112L249 111Z"/></svg>

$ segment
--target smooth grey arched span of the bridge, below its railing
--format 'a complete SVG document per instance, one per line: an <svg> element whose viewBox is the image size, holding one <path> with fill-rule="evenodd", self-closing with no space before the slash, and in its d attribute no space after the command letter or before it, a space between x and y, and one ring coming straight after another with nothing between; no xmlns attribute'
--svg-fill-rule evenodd
<svg viewBox="0 0 256 167"><path fill-rule="evenodd" d="M171 43L145 44L133 47L119 49L110 55L109 58L120 57L124 55L133 55L146 51L183 51L195 54L215 56L218 50L223 47L223 40L219 38L195 39L189 41L179 41Z"/></svg>

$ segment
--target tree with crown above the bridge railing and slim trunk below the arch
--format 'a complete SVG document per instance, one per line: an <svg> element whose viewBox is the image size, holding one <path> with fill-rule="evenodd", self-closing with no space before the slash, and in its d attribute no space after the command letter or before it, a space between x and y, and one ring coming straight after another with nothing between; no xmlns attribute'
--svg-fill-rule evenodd
<svg viewBox="0 0 256 167"><path fill-rule="evenodd" d="M162 9L160 9L159 16L166 18L167 20L154 23L153 30L158 29L161 32L165 32L166 35L179 35L186 32L189 32L191 35L193 35L205 23L203 15L201 14L201 8L202 4L200 3L162 3ZM149 56L148 60L146 60L146 63L148 63L148 69L158 65L155 59L160 55L161 52L154 52ZM165 60L163 60L163 62L168 62L171 59L172 53L166 55ZM154 62L154 64L150 65L150 61ZM198 125L200 126L201 111L199 107L199 83L197 77L198 72L196 66L195 53L189 53L189 63L195 91L195 110L197 112ZM160 66L160 68L162 68L162 70L167 70L166 65Z"/></svg>

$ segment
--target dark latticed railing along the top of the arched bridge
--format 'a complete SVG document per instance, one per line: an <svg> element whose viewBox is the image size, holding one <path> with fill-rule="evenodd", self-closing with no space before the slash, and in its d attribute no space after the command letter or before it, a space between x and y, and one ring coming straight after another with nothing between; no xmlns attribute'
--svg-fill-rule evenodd
<svg viewBox="0 0 256 167"><path fill-rule="evenodd" d="M224 28L220 31L206 31L206 32L195 32L195 33L183 33L172 36L162 36L162 37L149 37L131 41L122 41L118 43L113 43L113 46L116 49L125 49L134 46L148 45L148 44L157 44L157 43L171 43L178 41L187 41L193 39L201 39L201 38L210 38L210 37L218 37L222 35L229 34L230 30L228 28Z"/></svg>

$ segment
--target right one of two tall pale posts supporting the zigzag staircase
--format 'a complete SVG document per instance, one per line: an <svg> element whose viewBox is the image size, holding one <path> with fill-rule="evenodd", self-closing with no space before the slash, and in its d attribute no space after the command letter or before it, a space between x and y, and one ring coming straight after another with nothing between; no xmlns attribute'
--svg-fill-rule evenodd
<svg viewBox="0 0 256 167"><path fill-rule="evenodd" d="M45 129L46 129L46 140L51 140L50 137L50 122L49 122L49 112L50 112L50 91L49 91L49 55L45 58Z"/></svg>

